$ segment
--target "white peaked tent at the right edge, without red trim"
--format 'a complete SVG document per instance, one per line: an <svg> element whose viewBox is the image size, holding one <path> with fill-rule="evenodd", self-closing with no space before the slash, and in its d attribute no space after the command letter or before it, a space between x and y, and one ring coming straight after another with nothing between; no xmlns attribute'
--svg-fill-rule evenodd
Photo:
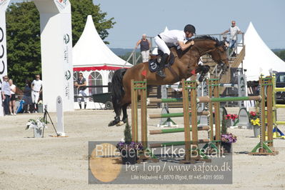
<svg viewBox="0 0 285 190"><path fill-rule="evenodd" d="M243 64L248 81L257 81L260 74L269 75L271 69L285 71L285 62L266 46L252 23L249 24L244 34L244 44L246 55Z"/></svg>

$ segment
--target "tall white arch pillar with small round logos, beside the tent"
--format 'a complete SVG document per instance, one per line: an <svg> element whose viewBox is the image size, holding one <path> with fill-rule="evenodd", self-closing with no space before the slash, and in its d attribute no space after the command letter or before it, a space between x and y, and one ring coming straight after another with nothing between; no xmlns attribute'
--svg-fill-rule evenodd
<svg viewBox="0 0 285 190"><path fill-rule="evenodd" d="M34 0L41 19L43 100L56 111L61 96L64 111L74 110L71 4L69 0Z"/></svg>

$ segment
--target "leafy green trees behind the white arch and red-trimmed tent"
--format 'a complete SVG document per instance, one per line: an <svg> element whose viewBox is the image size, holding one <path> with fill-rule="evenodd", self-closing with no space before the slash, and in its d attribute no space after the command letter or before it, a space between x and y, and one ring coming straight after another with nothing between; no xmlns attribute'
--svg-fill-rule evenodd
<svg viewBox="0 0 285 190"><path fill-rule="evenodd" d="M71 2L72 44L79 40L84 30L87 16L92 15L101 39L109 35L113 28L114 18L106 19L100 5L92 0L69 0ZM11 4L6 10L6 39L8 74L19 87L24 86L26 79L34 79L41 74L41 41L39 11L34 2ZM108 44L108 41L104 41Z"/></svg>

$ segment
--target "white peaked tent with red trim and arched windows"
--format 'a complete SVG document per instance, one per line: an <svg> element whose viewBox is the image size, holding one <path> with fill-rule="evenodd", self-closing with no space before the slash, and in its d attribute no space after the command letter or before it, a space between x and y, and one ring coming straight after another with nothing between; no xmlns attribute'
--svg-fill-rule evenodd
<svg viewBox="0 0 285 190"><path fill-rule="evenodd" d="M88 86L108 85L114 70L133 66L111 51L99 36L92 16L87 17L86 25L79 41L72 50L74 79L81 72ZM87 95L108 92L107 88L89 88ZM76 95L76 91L74 91ZM77 104L76 104L77 105ZM91 108L90 105L87 108Z"/></svg>

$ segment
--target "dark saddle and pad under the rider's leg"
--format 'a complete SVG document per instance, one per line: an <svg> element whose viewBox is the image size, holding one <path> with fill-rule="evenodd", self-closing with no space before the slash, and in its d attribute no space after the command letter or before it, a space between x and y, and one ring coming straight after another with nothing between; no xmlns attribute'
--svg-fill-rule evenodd
<svg viewBox="0 0 285 190"><path fill-rule="evenodd" d="M159 49L158 53L159 53L158 55L154 55L154 54L150 55L151 59L149 59L149 71L151 72L156 72L157 70L160 69L160 64L159 64L160 58L164 54L164 52ZM172 52L170 52L169 59L162 69L173 65L174 60L175 60L175 56Z"/></svg>

